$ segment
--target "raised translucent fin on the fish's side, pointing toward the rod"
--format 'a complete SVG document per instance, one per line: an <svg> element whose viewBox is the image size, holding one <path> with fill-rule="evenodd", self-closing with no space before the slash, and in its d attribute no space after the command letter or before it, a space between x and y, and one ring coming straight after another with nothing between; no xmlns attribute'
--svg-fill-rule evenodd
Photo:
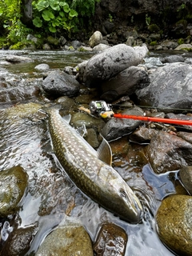
<svg viewBox="0 0 192 256"><path fill-rule="evenodd" d="M102 137L102 143L98 147L97 154L98 154L98 158L102 160L102 162L106 162L106 164L111 166L112 152L111 152L109 143L103 137Z"/></svg>

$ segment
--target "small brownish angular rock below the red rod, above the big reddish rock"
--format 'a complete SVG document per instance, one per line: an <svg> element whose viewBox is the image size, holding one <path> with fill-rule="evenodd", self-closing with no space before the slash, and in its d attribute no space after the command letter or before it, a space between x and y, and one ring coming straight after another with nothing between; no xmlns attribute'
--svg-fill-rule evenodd
<svg viewBox="0 0 192 256"><path fill-rule="evenodd" d="M130 134L130 141L138 143L149 143L154 135L158 134L158 130L146 128L141 126L138 130L134 130L133 134Z"/></svg>

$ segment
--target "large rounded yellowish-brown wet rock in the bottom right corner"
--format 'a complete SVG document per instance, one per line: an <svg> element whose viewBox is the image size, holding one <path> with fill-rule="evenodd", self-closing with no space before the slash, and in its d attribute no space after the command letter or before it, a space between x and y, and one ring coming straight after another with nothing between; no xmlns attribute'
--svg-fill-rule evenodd
<svg viewBox="0 0 192 256"><path fill-rule="evenodd" d="M192 252L192 198L174 195L162 201L156 216L158 235L178 255Z"/></svg>

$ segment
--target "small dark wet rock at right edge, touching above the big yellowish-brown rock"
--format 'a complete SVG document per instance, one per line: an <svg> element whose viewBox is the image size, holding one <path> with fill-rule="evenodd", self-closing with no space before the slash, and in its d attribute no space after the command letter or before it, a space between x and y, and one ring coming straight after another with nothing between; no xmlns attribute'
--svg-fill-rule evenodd
<svg viewBox="0 0 192 256"><path fill-rule="evenodd" d="M183 166L179 170L179 177L181 178L183 186L192 195L192 166Z"/></svg>

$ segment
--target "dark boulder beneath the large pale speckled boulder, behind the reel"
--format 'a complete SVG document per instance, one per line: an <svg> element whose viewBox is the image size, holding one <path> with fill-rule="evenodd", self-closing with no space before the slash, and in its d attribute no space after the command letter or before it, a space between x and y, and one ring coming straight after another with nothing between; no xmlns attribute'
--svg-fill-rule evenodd
<svg viewBox="0 0 192 256"><path fill-rule="evenodd" d="M150 78L145 70L138 66L130 66L114 78L102 83L101 98L106 102L112 102L123 95L134 94L136 90L149 84Z"/></svg>

